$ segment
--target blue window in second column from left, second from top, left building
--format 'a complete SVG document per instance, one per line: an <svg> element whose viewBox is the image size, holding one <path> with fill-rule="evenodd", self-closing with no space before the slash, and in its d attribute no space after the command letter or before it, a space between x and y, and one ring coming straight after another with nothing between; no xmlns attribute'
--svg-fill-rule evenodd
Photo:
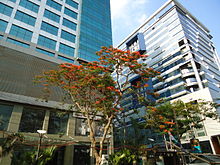
<svg viewBox="0 0 220 165"><path fill-rule="evenodd" d="M15 19L19 20L19 21L22 21L28 25L31 25L31 26L34 26L35 25L35 22L36 22L36 18L30 16L30 15L27 15L21 11L17 11L16 14L15 14Z"/></svg>

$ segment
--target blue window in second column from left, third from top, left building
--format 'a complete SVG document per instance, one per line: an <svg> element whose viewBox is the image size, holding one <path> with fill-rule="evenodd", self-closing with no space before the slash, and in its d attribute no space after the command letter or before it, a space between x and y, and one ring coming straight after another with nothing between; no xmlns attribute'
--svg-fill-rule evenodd
<svg viewBox="0 0 220 165"><path fill-rule="evenodd" d="M18 38L21 38L23 40L26 40L26 41L31 41L33 32L23 29L16 25L12 25L9 34L16 36Z"/></svg>

